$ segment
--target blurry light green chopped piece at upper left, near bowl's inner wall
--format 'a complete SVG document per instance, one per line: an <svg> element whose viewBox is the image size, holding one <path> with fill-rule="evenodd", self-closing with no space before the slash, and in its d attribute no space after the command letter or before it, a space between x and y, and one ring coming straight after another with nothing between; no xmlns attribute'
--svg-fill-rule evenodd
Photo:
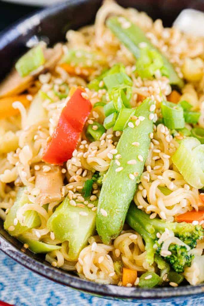
<svg viewBox="0 0 204 306"><path fill-rule="evenodd" d="M27 76L45 63L43 49L40 45L32 48L24 54L16 63L15 67L20 76Z"/></svg>

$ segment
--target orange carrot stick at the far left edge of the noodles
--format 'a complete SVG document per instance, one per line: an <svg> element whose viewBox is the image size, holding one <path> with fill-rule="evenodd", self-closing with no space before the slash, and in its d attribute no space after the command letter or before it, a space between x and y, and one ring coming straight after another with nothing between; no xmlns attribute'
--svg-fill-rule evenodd
<svg viewBox="0 0 204 306"><path fill-rule="evenodd" d="M19 114L18 109L14 109L12 104L15 101L20 101L25 107L30 104L27 95L15 95L0 99L0 119L15 116Z"/></svg>

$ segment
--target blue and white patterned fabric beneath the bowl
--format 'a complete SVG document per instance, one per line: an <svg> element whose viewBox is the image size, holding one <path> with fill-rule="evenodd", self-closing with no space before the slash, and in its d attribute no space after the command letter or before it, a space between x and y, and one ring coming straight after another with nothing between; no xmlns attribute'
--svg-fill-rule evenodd
<svg viewBox="0 0 204 306"><path fill-rule="evenodd" d="M176 302L129 303L93 297L47 280L0 251L0 300L15 306L203 306L204 297ZM135 301L136 302L136 301Z"/></svg>

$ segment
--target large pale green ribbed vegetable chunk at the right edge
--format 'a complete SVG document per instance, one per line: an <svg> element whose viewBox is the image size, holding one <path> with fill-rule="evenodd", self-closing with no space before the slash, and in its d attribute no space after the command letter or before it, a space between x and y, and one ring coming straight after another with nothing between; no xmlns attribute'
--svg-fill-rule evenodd
<svg viewBox="0 0 204 306"><path fill-rule="evenodd" d="M199 164L199 158L195 154L198 154L198 146L200 146L200 141L196 138L184 138L172 156L172 162L188 184L195 188L202 188L204 185L204 173ZM196 151L194 151L195 148L197 149ZM199 154L201 155L201 153ZM204 160L204 157L202 158Z"/></svg>

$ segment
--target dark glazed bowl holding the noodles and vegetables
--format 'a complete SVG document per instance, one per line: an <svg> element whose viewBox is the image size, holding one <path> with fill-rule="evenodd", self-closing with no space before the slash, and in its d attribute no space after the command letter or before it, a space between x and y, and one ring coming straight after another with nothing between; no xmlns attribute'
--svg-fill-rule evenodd
<svg viewBox="0 0 204 306"><path fill-rule="evenodd" d="M69 0L28 16L2 32L0 36L0 78L2 79L9 72L15 59L26 51L26 44L30 39L36 36L43 37L43 39L49 39L50 45L64 40L68 29L77 29L94 21L101 2L100 0ZM144 10L153 19L161 18L165 26L171 26L176 16L184 8L204 11L204 1L201 0L180 0L179 2L176 0L120 0L118 2L125 7L132 6ZM97 284L81 279L74 273L51 267L45 261L44 256L22 249L22 244L3 229L2 220L0 220L0 249L33 272L99 297L140 303L175 301L179 305L187 305L187 301L191 305L192 303L198 304L198 300L204 297L204 284L184 285L176 288L140 289ZM183 304L184 301L185 304ZM191 303L191 301L194 302Z"/></svg>

